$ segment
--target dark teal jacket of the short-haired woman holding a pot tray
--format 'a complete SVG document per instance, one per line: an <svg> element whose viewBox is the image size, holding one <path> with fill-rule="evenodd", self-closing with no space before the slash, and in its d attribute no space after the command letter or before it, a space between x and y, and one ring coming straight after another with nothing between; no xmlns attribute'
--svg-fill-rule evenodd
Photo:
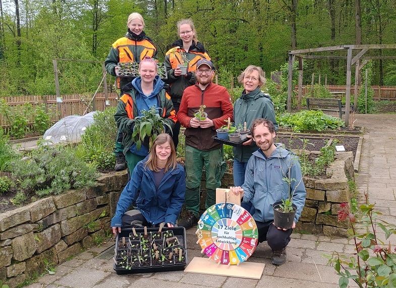
<svg viewBox="0 0 396 288"><path fill-rule="evenodd" d="M239 125L243 127L245 122L246 128L250 129L253 121L257 118L272 121L275 125L275 131L278 131L272 99L269 94L260 91L259 87L247 94L244 90L241 97L234 103L234 123L237 129ZM246 163L256 150L257 145L254 141L250 145L234 147L234 158L239 162Z"/></svg>

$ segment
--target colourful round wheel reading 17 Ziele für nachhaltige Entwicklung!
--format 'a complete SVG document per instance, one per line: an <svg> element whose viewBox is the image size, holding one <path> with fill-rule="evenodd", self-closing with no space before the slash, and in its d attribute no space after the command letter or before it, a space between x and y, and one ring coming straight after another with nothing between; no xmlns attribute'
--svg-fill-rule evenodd
<svg viewBox="0 0 396 288"><path fill-rule="evenodd" d="M252 215L232 203L217 203L206 209L195 234L202 253L225 265L248 259L258 241L257 225Z"/></svg>

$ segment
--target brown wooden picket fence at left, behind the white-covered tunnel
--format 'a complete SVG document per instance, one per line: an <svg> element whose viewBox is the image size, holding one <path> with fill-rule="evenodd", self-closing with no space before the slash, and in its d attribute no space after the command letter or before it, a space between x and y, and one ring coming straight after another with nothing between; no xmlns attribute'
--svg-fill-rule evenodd
<svg viewBox="0 0 396 288"><path fill-rule="evenodd" d="M46 111L52 116L51 121L56 122L70 115L82 116L85 110L87 110L86 113L89 113L95 110L103 111L107 107L116 107L118 98L117 93L107 93L106 99L104 93L98 92L92 102L92 94L62 95L60 99L56 99L56 95L9 96L2 99L5 99L12 109L19 109L23 112L26 112L26 109L23 108L25 103L31 104L32 109L44 104ZM33 116L33 113L28 115L29 126L34 124ZM6 130L10 126L9 120L3 114L0 114L0 126Z"/></svg>

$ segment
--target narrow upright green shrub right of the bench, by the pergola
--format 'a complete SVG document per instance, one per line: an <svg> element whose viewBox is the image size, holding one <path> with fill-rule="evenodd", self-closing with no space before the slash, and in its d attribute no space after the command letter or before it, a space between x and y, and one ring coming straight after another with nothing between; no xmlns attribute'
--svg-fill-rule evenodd
<svg viewBox="0 0 396 288"><path fill-rule="evenodd" d="M362 88L360 89L358 95L358 111L360 113L372 113L374 110L374 90L371 88L373 83L373 67L374 63L370 61L364 66L364 71L367 69L367 109L366 109L366 92L365 92L365 83L366 83L366 73L362 73Z"/></svg>

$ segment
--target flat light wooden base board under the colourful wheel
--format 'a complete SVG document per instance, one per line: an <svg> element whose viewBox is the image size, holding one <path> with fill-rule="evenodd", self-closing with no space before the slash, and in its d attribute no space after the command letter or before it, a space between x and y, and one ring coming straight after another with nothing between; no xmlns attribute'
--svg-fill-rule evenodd
<svg viewBox="0 0 396 288"><path fill-rule="evenodd" d="M219 276L229 276L238 278L261 279L265 264L242 262L237 265L217 265L214 260L208 258L194 257L190 264L184 269L186 273L209 274Z"/></svg>

